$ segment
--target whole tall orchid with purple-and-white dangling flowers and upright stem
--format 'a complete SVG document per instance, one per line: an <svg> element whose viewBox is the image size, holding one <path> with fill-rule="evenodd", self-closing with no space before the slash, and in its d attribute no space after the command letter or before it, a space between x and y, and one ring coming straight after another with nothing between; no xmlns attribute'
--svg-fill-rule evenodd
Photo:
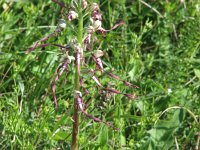
<svg viewBox="0 0 200 150"><path fill-rule="evenodd" d="M56 83L64 72L66 73L66 75L68 75L68 66L72 62L74 62L74 115L71 148L78 149L77 137L79 131L79 112L95 122L104 123L107 126L110 126L117 130L117 128L115 128L111 123L108 123L104 120L101 120L100 118L94 117L87 113L87 107L83 99L86 95L90 94L90 92L89 89L84 86L84 76L89 76L91 80L96 83L97 89L101 89L103 91L114 94L121 94L125 97L128 97L129 99L134 99L136 97L135 94L127 94L117 89L103 86L97 77L97 72L101 73L102 75L107 75L111 79L116 79L130 88L138 87L127 81L122 80L119 76L113 74L112 72L106 71L104 69L104 64L101 60L101 57L104 55L104 51L100 50L101 46L99 46L99 48L97 49L93 47L94 43L98 42L98 40L96 39L96 34L106 36L107 32L116 29L120 25L123 25L123 21L114 25L110 30L106 30L102 27L102 14L97 3L88 3L86 0L72 0L71 6L70 8L68 8L65 3L59 2L57 0L52 0L52 2L58 4L61 7L62 14L66 17L63 17L59 20L58 26L53 33L35 42L30 48L27 49L26 52L30 53L36 48L45 48L47 46L56 46L61 50L63 54L63 59L57 68L56 77L52 81L52 91L54 95L53 99L56 107L58 106L56 98ZM65 10L68 12L67 14L65 14ZM85 25L83 23L85 17L90 18L89 24ZM76 35L74 35L74 38L68 42L67 45L47 43L47 40L49 38L59 36L59 34L63 32L63 30L65 30L65 28L67 28L68 26L73 26L74 28L77 28L77 33ZM90 68L89 64L86 63L90 62L86 61L90 58L95 63L95 68ZM86 72L87 74L85 74Z"/></svg>

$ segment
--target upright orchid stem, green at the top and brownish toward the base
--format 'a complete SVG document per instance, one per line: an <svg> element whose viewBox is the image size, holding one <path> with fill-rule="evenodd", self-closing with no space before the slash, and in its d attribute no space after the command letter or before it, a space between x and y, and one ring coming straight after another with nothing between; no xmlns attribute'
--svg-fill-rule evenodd
<svg viewBox="0 0 200 150"><path fill-rule="evenodd" d="M81 0L79 0L78 6L78 32L77 32L77 40L80 46L82 47L82 38L83 38L83 15L82 15L82 8L81 8ZM80 64L81 65L81 64ZM75 71L75 91L80 91L80 75L78 73L78 64L76 65ZM77 98L74 97L74 114L73 114L73 131L72 131L72 143L71 143L71 150L78 150L78 133L79 133L79 108L77 104Z"/></svg>

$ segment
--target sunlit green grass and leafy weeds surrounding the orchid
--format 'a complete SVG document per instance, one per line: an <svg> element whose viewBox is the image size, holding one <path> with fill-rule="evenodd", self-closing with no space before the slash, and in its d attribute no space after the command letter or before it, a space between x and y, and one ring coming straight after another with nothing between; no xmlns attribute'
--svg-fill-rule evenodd
<svg viewBox="0 0 200 150"><path fill-rule="evenodd" d="M140 88L130 90L102 76L103 85L138 96L135 101L118 95L107 100L88 79L94 97L88 112L121 130L81 116L80 149L198 149L200 2L98 2L106 29L126 22L99 37L106 52L103 61ZM0 13L0 149L69 149L73 65L68 78L63 75L57 83L56 110L51 85L62 57L59 49L25 54L33 42L53 32L61 17L59 6L50 0L1 0ZM48 42L67 44L72 33L67 28Z"/></svg>

